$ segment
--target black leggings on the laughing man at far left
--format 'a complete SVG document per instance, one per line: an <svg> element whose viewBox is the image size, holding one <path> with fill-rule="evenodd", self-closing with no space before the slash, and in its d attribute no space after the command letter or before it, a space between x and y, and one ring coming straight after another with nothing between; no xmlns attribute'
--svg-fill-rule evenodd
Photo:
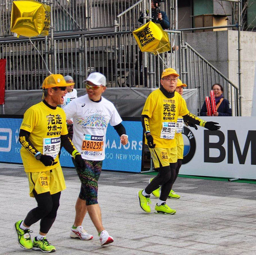
<svg viewBox="0 0 256 255"><path fill-rule="evenodd" d="M40 231L46 234L52 227L57 216L61 192L51 195L50 192L37 194L36 191L33 190L33 194L37 202L37 207L27 214L24 224L26 226L31 226L41 219Z"/></svg>

